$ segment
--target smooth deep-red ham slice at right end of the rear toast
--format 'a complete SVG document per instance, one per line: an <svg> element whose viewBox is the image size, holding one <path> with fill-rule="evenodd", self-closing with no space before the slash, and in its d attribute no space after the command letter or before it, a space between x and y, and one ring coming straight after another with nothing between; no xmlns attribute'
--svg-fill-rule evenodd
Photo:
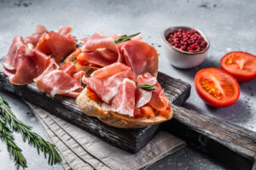
<svg viewBox="0 0 256 170"><path fill-rule="evenodd" d="M154 47L138 40L121 42L118 46L125 64L131 67L136 76L148 72L157 77L158 54Z"/></svg>

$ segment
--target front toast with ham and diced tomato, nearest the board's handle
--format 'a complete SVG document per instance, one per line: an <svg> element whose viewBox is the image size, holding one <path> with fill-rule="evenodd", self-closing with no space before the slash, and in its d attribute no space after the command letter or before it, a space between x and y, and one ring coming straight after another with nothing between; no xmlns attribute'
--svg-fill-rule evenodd
<svg viewBox="0 0 256 170"><path fill-rule="evenodd" d="M114 63L84 77L83 82L87 87L76 99L79 109L110 126L147 127L172 118L171 104L150 73L135 77L131 67ZM144 82L153 88L139 88Z"/></svg>

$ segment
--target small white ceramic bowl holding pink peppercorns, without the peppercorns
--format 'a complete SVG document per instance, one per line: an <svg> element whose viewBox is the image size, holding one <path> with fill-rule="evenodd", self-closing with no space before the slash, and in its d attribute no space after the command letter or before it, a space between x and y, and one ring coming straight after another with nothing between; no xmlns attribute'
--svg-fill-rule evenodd
<svg viewBox="0 0 256 170"><path fill-rule="evenodd" d="M207 48L205 48L203 51L197 52L197 53L189 53L186 51L183 51L179 48L173 47L167 40L166 37L168 37L172 32L178 31L178 29L182 29L184 31L191 31L196 30L200 33L201 37L204 38L204 40L207 42ZM165 50L165 55L167 59L169 59L171 65L180 68L180 69L189 69L193 68L197 65L200 65L207 57L207 50L210 47L210 42L208 41L207 37L198 29L191 28L188 26L173 26L170 28L167 28L162 33L162 40L163 40L163 47Z"/></svg>

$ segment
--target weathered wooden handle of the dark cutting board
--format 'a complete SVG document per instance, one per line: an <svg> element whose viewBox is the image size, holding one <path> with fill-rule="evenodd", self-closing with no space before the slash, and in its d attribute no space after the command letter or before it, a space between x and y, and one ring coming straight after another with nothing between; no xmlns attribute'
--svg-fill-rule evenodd
<svg viewBox="0 0 256 170"><path fill-rule="evenodd" d="M164 127L188 144L234 169L254 169L256 133L243 127L172 105L174 116Z"/></svg>

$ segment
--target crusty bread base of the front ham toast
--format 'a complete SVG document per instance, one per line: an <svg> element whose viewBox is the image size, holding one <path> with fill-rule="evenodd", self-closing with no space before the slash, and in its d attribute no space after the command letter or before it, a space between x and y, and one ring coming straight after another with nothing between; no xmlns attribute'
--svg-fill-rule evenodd
<svg viewBox="0 0 256 170"><path fill-rule="evenodd" d="M140 128L148 127L149 125L154 125L160 122L165 122L170 120L173 116L173 111L171 111L169 117L155 116L154 118L148 117L139 117L133 118L131 116L126 116L119 114L115 111L103 111L101 104L98 104L96 101L90 99L87 94L87 88L79 94L79 97L76 99L79 109L83 111L88 116L96 116L102 122L108 124L112 127L119 128Z"/></svg>

